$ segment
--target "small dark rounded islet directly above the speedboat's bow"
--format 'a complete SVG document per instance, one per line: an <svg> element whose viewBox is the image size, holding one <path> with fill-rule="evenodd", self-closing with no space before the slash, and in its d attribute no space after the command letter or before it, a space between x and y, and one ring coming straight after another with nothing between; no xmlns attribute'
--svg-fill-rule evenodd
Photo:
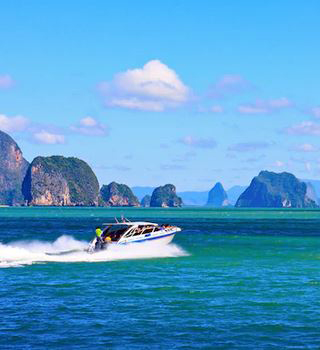
<svg viewBox="0 0 320 350"><path fill-rule="evenodd" d="M151 207L181 207L182 199L177 196L174 185L168 184L157 187L151 196Z"/></svg>

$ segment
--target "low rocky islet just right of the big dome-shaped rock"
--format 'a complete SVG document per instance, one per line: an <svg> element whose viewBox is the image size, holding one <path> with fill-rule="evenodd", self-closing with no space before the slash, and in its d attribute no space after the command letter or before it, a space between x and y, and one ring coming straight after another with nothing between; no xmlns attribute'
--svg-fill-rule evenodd
<svg viewBox="0 0 320 350"><path fill-rule="evenodd" d="M106 206L140 207L138 198L127 185L111 182L101 187L100 195Z"/></svg>

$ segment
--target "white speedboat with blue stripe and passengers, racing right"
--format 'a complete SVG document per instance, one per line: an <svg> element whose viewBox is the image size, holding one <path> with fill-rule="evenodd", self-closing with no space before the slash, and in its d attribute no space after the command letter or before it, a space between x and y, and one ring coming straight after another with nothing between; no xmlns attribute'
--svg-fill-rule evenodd
<svg viewBox="0 0 320 350"><path fill-rule="evenodd" d="M89 244L89 253L107 249L109 245L122 245L157 241L161 244L169 244L174 235L181 231L180 227L172 225L159 225L153 222L136 221L127 219L123 222L103 224L101 237L95 237Z"/></svg>

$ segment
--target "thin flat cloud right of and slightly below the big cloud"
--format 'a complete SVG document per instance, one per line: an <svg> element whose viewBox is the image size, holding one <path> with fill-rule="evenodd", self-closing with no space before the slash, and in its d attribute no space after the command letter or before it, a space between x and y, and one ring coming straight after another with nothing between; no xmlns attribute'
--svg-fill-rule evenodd
<svg viewBox="0 0 320 350"><path fill-rule="evenodd" d="M257 100L254 103L240 105L237 109L241 114L266 114L292 106L293 103L287 97L280 97L270 100Z"/></svg>

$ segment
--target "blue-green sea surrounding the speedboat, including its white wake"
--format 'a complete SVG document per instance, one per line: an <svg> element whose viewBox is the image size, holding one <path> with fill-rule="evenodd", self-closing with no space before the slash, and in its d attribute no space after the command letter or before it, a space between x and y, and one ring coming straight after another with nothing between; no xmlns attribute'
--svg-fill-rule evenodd
<svg viewBox="0 0 320 350"><path fill-rule="evenodd" d="M166 247L82 249L125 214ZM320 348L320 211L0 209L1 349ZM68 249L65 249L68 248Z"/></svg>

